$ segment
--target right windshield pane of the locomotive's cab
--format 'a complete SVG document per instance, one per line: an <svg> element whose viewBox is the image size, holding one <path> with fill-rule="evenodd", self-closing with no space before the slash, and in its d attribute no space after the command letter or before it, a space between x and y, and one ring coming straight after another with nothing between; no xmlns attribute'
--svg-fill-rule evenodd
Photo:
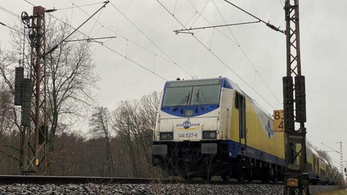
<svg viewBox="0 0 347 195"><path fill-rule="evenodd" d="M220 84L194 86L191 105L218 104Z"/></svg>

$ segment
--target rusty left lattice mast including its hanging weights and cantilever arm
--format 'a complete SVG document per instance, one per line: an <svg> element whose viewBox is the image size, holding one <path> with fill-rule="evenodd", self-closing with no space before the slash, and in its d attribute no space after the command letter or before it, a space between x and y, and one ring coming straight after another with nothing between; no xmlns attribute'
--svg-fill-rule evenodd
<svg viewBox="0 0 347 195"><path fill-rule="evenodd" d="M46 52L46 27L45 13L56 11L55 9L45 10L41 6L33 8L33 15L29 16L27 12L21 13L21 20L27 26L29 31L31 62L30 62L30 78L24 78L24 68L16 68L15 76L15 97L14 104L21 105L21 126L24 138L20 148L23 148L23 166L20 167L22 175L46 175L48 161L48 121L46 106L46 59L45 56L58 48L62 42L75 33L97 12L105 7L110 1L103 2L103 5L88 19L86 19L78 28L64 37L57 45ZM31 25L29 21L31 20ZM101 37L113 38L113 37ZM94 39L101 39L94 38ZM89 41L93 41L89 37ZM33 124L31 123L33 122ZM21 138L22 139L22 138Z"/></svg>

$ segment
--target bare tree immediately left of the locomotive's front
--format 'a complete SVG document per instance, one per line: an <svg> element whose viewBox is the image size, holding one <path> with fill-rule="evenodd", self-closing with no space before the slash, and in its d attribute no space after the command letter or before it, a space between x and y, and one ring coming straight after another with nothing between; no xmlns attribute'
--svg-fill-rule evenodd
<svg viewBox="0 0 347 195"><path fill-rule="evenodd" d="M112 128L126 145L122 151L126 151L131 160L136 177L139 177L140 170L151 164L150 148L159 99L160 95L153 92L140 100L125 100L112 113ZM145 163L140 163L143 161Z"/></svg>

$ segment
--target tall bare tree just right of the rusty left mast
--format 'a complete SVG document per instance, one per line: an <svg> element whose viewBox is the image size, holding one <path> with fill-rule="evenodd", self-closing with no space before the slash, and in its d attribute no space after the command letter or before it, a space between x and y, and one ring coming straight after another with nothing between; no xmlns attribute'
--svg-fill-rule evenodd
<svg viewBox="0 0 347 195"><path fill-rule="evenodd" d="M62 23L49 18L47 25L47 50L72 32ZM71 39L76 39L74 34ZM86 41L63 42L47 56L47 90L49 102L49 148L53 143L59 119L71 119L85 116L85 108L95 100L93 89L97 88L99 77L95 75L93 53Z"/></svg>

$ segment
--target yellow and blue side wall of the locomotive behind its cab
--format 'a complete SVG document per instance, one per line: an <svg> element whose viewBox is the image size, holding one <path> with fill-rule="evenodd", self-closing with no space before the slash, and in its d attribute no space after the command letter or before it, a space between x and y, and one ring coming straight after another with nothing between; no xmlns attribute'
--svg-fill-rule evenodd
<svg viewBox="0 0 347 195"><path fill-rule="evenodd" d="M245 155L258 160L284 166L284 134L273 131L272 118L259 109L251 100L246 100L246 139L240 138L240 108L237 109L233 96L230 139L233 144L239 144L241 151L234 151L232 157ZM241 144L240 144L241 143ZM246 146L246 147L245 147ZM242 153L243 148L245 154Z"/></svg>

